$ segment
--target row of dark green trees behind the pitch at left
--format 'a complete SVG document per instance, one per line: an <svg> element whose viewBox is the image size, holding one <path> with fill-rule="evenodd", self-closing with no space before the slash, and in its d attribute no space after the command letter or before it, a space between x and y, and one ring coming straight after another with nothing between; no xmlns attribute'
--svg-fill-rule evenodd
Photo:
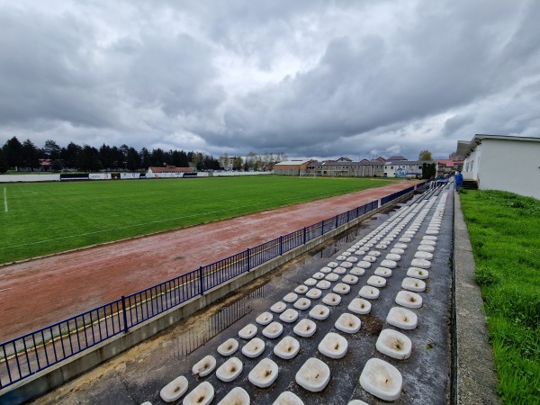
<svg viewBox="0 0 540 405"><path fill-rule="evenodd" d="M121 147L108 146L103 143L100 148L89 145L77 145L69 142L60 147L55 140L45 141L43 148L38 148L26 139L23 142L17 137L8 139L0 148L0 173L9 168L23 171L62 170L97 172L97 171L146 171L149 166L189 167L190 163L197 170L220 170L220 161L201 152L185 152L184 150L168 151L155 148L136 148L128 145Z"/></svg>

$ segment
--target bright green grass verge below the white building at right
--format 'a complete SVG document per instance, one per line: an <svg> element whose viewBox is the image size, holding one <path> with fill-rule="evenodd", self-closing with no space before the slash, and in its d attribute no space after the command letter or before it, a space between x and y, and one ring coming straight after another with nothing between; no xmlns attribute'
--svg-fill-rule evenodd
<svg viewBox="0 0 540 405"><path fill-rule="evenodd" d="M540 201L495 191L461 200L501 399L540 403Z"/></svg>

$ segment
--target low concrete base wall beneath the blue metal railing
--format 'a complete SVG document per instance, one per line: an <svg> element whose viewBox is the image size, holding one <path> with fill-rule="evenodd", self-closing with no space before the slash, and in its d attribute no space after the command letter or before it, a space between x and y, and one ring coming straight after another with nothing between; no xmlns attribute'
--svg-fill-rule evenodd
<svg viewBox="0 0 540 405"><path fill-rule="evenodd" d="M193 315L195 312L202 310L211 303L219 301L229 293L237 291L239 288L251 283L258 277L266 275L275 268L293 260L293 258L301 256L330 238L334 238L347 229L356 226L363 220L367 220L377 213L391 208L396 203L409 199L413 193L414 192L406 193L392 202L387 202L355 220L351 220L318 238L312 239L301 247L296 247L280 257L275 257L275 259L251 269L247 273L238 275L224 284L220 284L211 290L205 291L202 295L194 297L175 308L165 311L157 317L141 322L125 334L118 335L117 337L97 344L76 356L69 357L67 360L58 363L58 365L50 366L19 383L14 383L9 387L0 390L0 404L14 404L30 401L67 383L76 378L76 376L84 374L112 357L120 355L130 347L134 347L140 342L157 335L157 333L171 327L176 322Z"/></svg>

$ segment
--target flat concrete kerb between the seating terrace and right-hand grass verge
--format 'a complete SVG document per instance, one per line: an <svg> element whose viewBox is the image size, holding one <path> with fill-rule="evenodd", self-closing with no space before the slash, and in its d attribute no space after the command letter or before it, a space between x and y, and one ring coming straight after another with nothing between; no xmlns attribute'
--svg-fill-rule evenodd
<svg viewBox="0 0 540 405"><path fill-rule="evenodd" d="M474 280L473 247L461 210L454 204L455 404L500 404L493 348L488 341L482 293Z"/></svg>

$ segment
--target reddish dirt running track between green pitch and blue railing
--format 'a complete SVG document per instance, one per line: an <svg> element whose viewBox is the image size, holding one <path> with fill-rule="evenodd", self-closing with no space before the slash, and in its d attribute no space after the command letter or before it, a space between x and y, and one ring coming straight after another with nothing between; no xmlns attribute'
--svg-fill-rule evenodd
<svg viewBox="0 0 540 405"><path fill-rule="evenodd" d="M0 270L0 341L88 311L410 187L399 182Z"/></svg>

